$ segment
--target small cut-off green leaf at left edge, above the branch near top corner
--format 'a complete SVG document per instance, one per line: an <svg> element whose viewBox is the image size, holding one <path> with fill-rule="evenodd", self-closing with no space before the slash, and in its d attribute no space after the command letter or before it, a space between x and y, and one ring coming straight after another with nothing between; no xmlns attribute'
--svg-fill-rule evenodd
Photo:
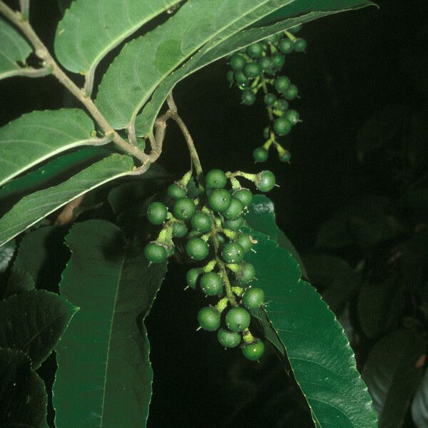
<svg viewBox="0 0 428 428"><path fill-rule="evenodd" d="M0 18L0 80L11 76L23 76L27 73L24 65L31 54L31 46L13 26Z"/></svg>

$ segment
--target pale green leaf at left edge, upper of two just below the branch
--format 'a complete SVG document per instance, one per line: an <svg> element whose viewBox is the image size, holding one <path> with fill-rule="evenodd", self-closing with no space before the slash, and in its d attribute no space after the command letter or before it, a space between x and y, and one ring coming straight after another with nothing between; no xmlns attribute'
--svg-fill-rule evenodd
<svg viewBox="0 0 428 428"><path fill-rule="evenodd" d="M32 111L0 128L0 185L71 148L106 144L94 138L93 121L83 110Z"/></svg>

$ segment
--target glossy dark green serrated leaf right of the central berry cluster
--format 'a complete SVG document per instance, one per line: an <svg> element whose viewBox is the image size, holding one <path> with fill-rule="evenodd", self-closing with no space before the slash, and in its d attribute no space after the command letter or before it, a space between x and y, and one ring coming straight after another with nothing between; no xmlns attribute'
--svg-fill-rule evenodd
<svg viewBox="0 0 428 428"><path fill-rule="evenodd" d="M305 395L320 428L375 428L370 396L355 367L345 332L315 288L300 279L290 253L255 233L258 287L265 309L253 311ZM288 358L288 361L287 361Z"/></svg>

